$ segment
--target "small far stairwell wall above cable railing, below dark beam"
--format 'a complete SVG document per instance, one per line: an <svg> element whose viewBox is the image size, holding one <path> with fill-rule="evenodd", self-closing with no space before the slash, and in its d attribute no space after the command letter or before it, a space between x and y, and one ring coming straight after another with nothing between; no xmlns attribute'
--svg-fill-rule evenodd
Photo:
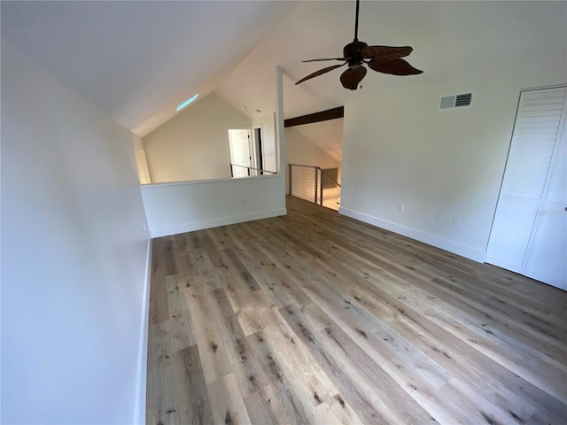
<svg viewBox="0 0 567 425"><path fill-rule="evenodd" d="M285 128L285 193L290 193L288 164L338 168L340 182L341 164L327 152L302 135L297 128Z"/></svg>

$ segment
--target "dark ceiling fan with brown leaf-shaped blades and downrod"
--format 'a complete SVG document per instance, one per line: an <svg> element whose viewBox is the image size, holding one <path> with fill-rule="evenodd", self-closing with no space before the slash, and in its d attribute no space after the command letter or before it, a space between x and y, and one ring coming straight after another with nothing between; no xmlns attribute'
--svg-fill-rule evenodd
<svg viewBox="0 0 567 425"><path fill-rule="evenodd" d="M307 77L302 78L295 84L307 81L311 78L318 77L323 73L328 73L333 69L340 68L348 64L348 69L341 73L340 82L345 89L355 90L358 84L366 75L366 68L363 64L367 64L370 69L377 73L390 73L392 75L415 75L423 73L419 69L409 65L405 58L412 52L409 46L390 47L390 46L369 46L366 42L358 40L358 11L360 0L356 0L356 20L354 22L354 40L349 42L343 49L343 58L324 58L309 59L303 62L318 62L322 60L340 60L345 61L341 65L328 66L322 68L315 73L310 73Z"/></svg>

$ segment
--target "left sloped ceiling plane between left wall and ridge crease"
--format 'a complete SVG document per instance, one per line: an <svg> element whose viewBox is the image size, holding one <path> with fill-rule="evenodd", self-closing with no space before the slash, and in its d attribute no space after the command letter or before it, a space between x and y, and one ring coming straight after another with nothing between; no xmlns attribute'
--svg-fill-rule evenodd
<svg viewBox="0 0 567 425"><path fill-rule="evenodd" d="M291 2L2 1L2 36L145 135L218 87Z"/></svg>

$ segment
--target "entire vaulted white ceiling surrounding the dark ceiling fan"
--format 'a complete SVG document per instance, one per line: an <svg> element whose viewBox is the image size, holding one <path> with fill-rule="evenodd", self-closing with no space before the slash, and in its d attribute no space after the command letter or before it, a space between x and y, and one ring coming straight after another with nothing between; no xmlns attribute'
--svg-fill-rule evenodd
<svg viewBox="0 0 567 425"><path fill-rule="evenodd" d="M276 66L283 67L284 114L291 118L379 96L384 85L458 87L464 74L501 78L509 65L521 71L524 60L543 64L550 54L567 54L564 40L538 30L551 21L564 25L565 2L362 1L359 38L412 46L408 61L424 73L369 71L363 89L350 91L338 81L340 70L293 83L331 65L301 60L342 55L353 39L353 0L1 5L4 39L142 136L197 92L202 98L215 90L249 116L274 111Z"/></svg>

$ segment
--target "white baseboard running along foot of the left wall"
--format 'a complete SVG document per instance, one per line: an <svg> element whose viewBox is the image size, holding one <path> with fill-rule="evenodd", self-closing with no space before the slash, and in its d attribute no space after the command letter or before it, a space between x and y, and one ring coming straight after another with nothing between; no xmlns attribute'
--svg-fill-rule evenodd
<svg viewBox="0 0 567 425"><path fill-rule="evenodd" d="M148 333L150 326L150 279L151 279L151 239L148 239L146 251L146 267L144 279L144 296L142 298L142 323L140 324L140 348L138 355L138 373L136 377L136 406L134 423L145 423L146 385L148 374Z"/></svg>

